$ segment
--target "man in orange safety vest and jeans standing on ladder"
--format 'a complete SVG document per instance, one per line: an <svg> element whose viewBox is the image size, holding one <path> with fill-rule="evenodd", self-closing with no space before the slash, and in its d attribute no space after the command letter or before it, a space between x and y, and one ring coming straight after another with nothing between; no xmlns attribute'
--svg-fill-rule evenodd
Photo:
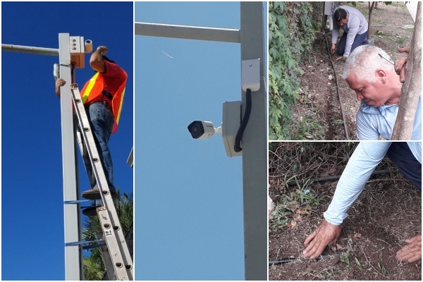
<svg viewBox="0 0 423 282"><path fill-rule="evenodd" d="M118 128L128 75L114 61L104 56L107 51L107 47L99 46L92 52L90 66L96 73L85 83L81 97L94 132L94 141L100 153L100 161L102 161L109 190L112 197L116 197L116 189L113 185L113 163L107 142L111 133L115 133ZM66 81L61 78L56 80L58 97L60 97L60 87L65 84ZM87 154L84 154L84 163L92 189L82 192L82 197L87 200L100 200L102 197ZM86 215L94 214L87 213Z"/></svg>

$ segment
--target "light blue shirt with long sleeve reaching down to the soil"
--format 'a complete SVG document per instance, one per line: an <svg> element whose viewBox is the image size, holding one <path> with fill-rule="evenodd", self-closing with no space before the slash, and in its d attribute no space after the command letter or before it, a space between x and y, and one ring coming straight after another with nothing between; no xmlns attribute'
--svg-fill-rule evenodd
<svg viewBox="0 0 423 282"><path fill-rule="evenodd" d="M392 142L360 142L339 179L328 210L323 214L326 221L335 225L343 222L348 216L348 209L357 200L391 144ZM422 164L422 142L407 142L407 145Z"/></svg>

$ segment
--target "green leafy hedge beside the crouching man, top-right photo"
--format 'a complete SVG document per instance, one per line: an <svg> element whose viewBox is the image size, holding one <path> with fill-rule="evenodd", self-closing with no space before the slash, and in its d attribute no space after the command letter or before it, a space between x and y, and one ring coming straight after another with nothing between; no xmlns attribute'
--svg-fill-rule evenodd
<svg viewBox="0 0 423 282"><path fill-rule="evenodd" d="M269 2L269 140L290 140L289 125L298 99L300 62L312 50L309 2Z"/></svg>

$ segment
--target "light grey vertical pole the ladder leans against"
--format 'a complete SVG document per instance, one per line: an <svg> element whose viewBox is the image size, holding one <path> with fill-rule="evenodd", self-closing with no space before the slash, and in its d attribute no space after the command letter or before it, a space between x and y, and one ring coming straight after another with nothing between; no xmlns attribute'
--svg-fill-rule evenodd
<svg viewBox="0 0 423 282"><path fill-rule="evenodd" d="M59 34L59 68L60 75L66 81L61 87L61 137L63 161L63 201L79 200L78 169L75 155L74 121L71 96L71 51L69 34ZM65 243L73 243L80 238L79 204L64 204ZM83 280L82 247L80 245L65 247L66 280Z"/></svg>

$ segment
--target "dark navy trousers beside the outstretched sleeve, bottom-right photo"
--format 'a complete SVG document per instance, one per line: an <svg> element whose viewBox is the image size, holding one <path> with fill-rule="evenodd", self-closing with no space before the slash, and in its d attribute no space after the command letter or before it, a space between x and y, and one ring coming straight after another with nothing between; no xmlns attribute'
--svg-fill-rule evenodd
<svg viewBox="0 0 423 282"><path fill-rule="evenodd" d="M407 142L392 142L387 156L393 164L422 192L422 164L412 154Z"/></svg>

